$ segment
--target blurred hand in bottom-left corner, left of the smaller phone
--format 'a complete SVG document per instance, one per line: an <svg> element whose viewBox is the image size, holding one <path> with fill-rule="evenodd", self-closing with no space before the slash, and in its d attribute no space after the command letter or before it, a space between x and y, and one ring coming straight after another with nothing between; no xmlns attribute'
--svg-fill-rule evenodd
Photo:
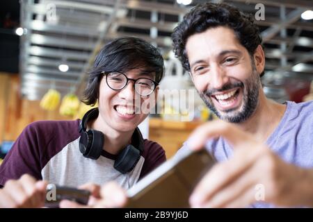
<svg viewBox="0 0 313 222"><path fill-rule="evenodd" d="M43 207L47 182L24 174L19 180L8 180L0 189L0 208Z"/></svg>

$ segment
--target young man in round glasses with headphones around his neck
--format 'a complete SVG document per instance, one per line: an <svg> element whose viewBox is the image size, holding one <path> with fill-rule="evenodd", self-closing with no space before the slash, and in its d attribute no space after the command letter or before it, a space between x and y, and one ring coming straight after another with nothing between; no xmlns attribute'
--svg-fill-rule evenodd
<svg viewBox="0 0 313 222"><path fill-rule="evenodd" d="M10 180L9 191L12 180L27 173L55 185L103 185L114 180L129 189L166 160L163 148L143 139L137 128L155 105L163 69L159 51L141 39L122 37L106 44L89 73L83 99L99 108L82 120L27 126L1 164L0 185ZM28 190L6 195L16 200L13 203L25 203L32 198ZM42 198L36 200L36 206L42 206Z"/></svg>

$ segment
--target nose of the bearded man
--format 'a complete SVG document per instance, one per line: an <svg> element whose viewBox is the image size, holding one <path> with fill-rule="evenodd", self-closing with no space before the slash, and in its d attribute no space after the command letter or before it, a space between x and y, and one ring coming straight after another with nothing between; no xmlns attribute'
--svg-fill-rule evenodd
<svg viewBox="0 0 313 222"><path fill-rule="evenodd" d="M220 65L211 65L209 76L211 88L220 89L229 81L225 69Z"/></svg>

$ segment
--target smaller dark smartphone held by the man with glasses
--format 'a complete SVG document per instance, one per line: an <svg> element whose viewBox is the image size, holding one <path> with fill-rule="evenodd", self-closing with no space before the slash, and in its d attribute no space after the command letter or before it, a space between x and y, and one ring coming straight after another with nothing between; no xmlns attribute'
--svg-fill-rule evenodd
<svg viewBox="0 0 313 222"><path fill-rule="evenodd" d="M58 208L61 200L72 200L81 205L87 205L90 191L76 189L73 187L62 187L58 185L47 185L45 207Z"/></svg>

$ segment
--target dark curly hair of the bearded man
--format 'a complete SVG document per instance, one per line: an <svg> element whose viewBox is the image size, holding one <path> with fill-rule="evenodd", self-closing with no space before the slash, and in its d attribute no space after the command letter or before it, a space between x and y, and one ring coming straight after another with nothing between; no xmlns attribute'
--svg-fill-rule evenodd
<svg viewBox="0 0 313 222"><path fill-rule="evenodd" d="M226 3L198 4L184 16L183 21L178 24L172 33L175 56L182 62L184 69L190 71L186 53L188 37L218 26L232 28L239 42L247 49L251 57L257 46L262 44L259 28L254 23L252 15L243 14L234 6ZM261 76L263 75L264 71Z"/></svg>

